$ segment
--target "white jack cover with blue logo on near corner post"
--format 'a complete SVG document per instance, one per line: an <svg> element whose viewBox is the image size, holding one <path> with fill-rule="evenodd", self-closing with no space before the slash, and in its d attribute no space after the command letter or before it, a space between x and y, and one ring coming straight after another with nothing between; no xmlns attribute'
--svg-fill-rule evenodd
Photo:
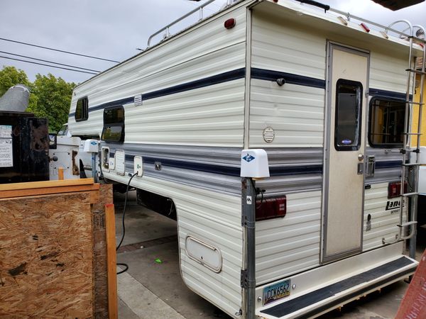
<svg viewBox="0 0 426 319"><path fill-rule="evenodd" d="M240 176L257 179L269 177L268 154L266 150L242 150Z"/></svg>

